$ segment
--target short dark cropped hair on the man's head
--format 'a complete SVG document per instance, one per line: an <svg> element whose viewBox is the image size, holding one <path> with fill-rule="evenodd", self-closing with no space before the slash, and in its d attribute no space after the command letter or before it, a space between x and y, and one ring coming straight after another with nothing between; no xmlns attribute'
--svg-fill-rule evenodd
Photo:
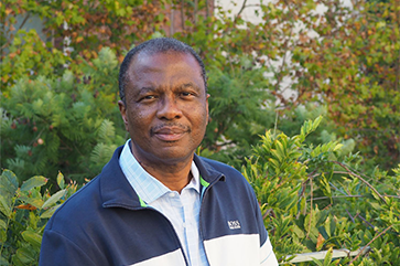
<svg viewBox="0 0 400 266"><path fill-rule="evenodd" d="M207 92L207 77L206 77L206 71L204 67L203 60L199 57L199 55L186 43L183 43L181 41L177 41L176 39L172 38L158 38L152 39L150 41L143 42L139 44L138 46L134 46L132 50L128 52L128 54L125 56L123 62L121 64L120 71L119 71L119 96L121 100L126 104L125 98L125 87L129 79L129 66L131 65L132 61L137 55L140 53L145 53L147 55L152 55L155 53L184 53L192 55L198 63L199 67L202 68L202 77L204 79L204 86Z"/></svg>

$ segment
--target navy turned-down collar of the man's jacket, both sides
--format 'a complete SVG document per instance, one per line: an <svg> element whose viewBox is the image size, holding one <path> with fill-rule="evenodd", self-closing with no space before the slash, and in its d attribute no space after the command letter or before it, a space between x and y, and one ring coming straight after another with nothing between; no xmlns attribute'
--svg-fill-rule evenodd
<svg viewBox="0 0 400 266"><path fill-rule="evenodd" d="M102 206L139 210L143 208L143 202L139 199L119 166L122 148L123 146L116 149L111 160L102 168L98 177ZM218 180L225 180L223 173L214 169L204 158L194 155L194 161L202 179L209 185Z"/></svg>

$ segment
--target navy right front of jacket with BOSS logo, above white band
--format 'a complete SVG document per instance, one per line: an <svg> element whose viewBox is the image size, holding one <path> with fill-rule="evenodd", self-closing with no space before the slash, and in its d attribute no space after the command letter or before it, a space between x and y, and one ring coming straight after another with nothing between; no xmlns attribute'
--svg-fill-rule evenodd
<svg viewBox="0 0 400 266"><path fill-rule="evenodd" d="M235 168L210 159L196 157L208 182L202 201L206 240L230 235L260 235L264 228L256 194L247 179ZM196 163L197 163L196 161ZM202 173L202 171L201 171ZM202 174L203 174L202 173Z"/></svg>

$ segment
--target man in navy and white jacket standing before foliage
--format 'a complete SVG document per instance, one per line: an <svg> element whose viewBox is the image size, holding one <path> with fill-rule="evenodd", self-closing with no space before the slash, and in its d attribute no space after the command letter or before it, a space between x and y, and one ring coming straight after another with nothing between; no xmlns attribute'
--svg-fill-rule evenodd
<svg viewBox="0 0 400 266"><path fill-rule="evenodd" d="M278 265L249 183L194 155L209 95L193 49L144 42L119 85L131 139L53 215L40 265Z"/></svg>

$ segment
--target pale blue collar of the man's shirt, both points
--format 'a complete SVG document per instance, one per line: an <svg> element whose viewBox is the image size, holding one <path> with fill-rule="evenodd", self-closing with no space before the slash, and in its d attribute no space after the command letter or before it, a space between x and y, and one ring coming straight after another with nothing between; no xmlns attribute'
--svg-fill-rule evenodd
<svg viewBox="0 0 400 266"><path fill-rule="evenodd" d="M145 203L150 204L165 193L171 192L169 188L140 166L130 150L130 139L123 146L121 156L119 157L119 164L132 189ZM199 171L194 161L192 161L191 172L193 178L184 190L194 189L199 193Z"/></svg>

